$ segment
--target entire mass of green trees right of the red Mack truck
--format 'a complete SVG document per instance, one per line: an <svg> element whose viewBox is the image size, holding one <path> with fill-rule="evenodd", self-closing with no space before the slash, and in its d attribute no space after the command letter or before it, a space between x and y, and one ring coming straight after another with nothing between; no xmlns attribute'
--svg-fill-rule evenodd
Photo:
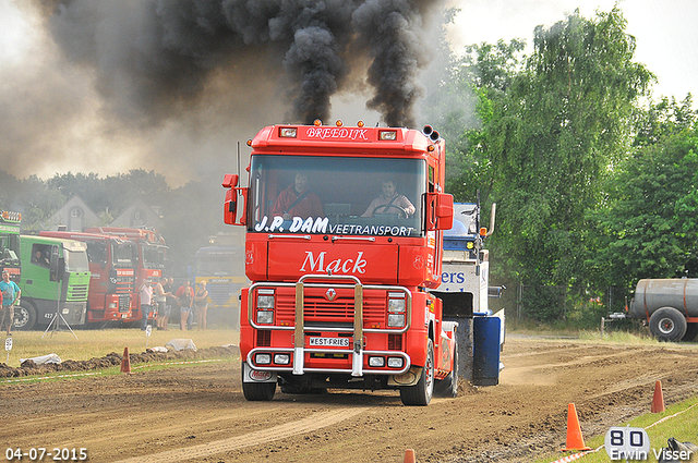
<svg viewBox="0 0 698 463"><path fill-rule="evenodd" d="M653 99L635 46L614 8L537 27L528 56L519 39L445 52L428 110L447 141L447 191L457 202L480 191L484 211L497 203L492 280L510 306L512 289L541 289L527 291L528 317L561 319L606 288L618 310L641 278L698 275L698 114L690 94ZM478 125L437 112L454 99Z"/></svg>

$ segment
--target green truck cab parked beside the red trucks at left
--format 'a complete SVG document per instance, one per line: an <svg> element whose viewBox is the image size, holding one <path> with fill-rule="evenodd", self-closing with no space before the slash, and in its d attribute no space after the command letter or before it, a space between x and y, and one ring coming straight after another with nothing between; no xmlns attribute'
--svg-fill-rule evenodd
<svg viewBox="0 0 698 463"><path fill-rule="evenodd" d="M71 327L85 325L89 263L80 241L20 235L22 301L14 308L14 327L47 326L58 315Z"/></svg>

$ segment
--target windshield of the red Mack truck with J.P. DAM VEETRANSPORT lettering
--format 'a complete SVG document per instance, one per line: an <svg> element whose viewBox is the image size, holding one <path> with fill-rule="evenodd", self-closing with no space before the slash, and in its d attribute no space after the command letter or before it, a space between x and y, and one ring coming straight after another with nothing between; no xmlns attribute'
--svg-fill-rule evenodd
<svg viewBox="0 0 698 463"><path fill-rule="evenodd" d="M425 161L252 157L248 232L421 236Z"/></svg>

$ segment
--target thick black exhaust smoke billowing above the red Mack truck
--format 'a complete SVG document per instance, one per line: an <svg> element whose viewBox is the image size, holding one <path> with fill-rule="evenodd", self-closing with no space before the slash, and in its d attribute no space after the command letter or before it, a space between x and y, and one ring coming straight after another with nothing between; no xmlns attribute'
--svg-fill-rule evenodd
<svg viewBox="0 0 698 463"><path fill-rule="evenodd" d="M56 0L41 9L64 56L94 70L107 108L122 121L158 125L177 118L226 75L231 93L260 90L250 86L269 85L272 76L291 102L287 122L301 123L329 119L334 94L368 83L368 107L388 125L410 126L423 94L418 72L432 54L425 15L438 14L440 4ZM249 78L255 73L258 80Z"/></svg>

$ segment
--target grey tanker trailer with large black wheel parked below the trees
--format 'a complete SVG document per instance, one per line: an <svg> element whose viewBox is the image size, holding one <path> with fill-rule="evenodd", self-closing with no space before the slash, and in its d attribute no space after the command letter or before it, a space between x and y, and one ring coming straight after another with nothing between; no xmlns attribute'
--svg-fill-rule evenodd
<svg viewBox="0 0 698 463"><path fill-rule="evenodd" d="M638 281L627 317L649 322L660 341L693 340L698 333L698 278Z"/></svg>

